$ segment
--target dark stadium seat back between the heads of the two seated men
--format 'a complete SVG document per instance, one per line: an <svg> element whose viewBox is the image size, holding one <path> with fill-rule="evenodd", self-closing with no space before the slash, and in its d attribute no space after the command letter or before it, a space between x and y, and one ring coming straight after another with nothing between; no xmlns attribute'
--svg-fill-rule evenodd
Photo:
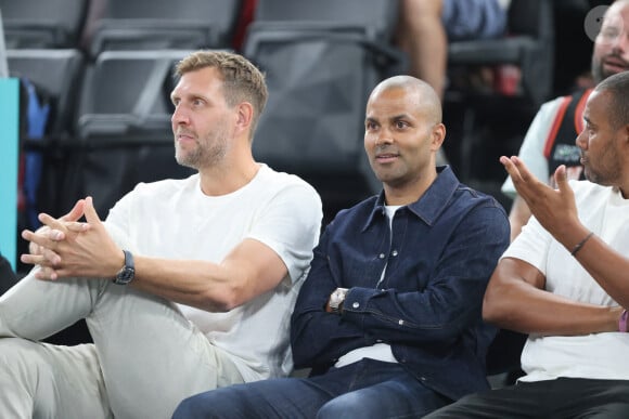
<svg viewBox="0 0 629 419"><path fill-rule="evenodd" d="M320 192L328 219L380 191L364 156L370 91L399 69L391 0L258 0L243 53L267 77L254 156Z"/></svg>

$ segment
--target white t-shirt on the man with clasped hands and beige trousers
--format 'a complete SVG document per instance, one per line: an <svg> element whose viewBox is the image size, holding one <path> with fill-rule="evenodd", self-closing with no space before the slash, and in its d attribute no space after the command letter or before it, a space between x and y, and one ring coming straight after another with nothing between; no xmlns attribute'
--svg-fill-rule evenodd
<svg viewBox="0 0 629 419"><path fill-rule="evenodd" d="M287 375L290 316L319 240L322 205L299 178L260 165L228 195L207 196L200 176L140 183L110 211L107 231L145 257L220 262L245 238L273 249L288 275L272 291L228 313L177 304L209 342L232 355L246 381Z"/></svg>

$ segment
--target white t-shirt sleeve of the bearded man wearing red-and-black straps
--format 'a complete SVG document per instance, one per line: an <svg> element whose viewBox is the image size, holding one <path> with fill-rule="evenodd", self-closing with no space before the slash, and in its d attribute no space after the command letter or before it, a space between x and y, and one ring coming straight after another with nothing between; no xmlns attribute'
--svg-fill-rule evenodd
<svg viewBox="0 0 629 419"><path fill-rule="evenodd" d="M542 182L548 182L550 179L548 159L543 155L543 148L563 100L564 97L560 96L541 105L519 147L518 157L528 170ZM511 176L506 176L500 191L510 198L515 197L517 192Z"/></svg>

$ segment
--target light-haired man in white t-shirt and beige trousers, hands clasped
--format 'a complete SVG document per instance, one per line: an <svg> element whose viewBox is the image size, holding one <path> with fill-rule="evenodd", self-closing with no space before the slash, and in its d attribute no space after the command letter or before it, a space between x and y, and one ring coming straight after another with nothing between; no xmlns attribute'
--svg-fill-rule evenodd
<svg viewBox="0 0 629 419"><path fill-rule="evenodd" d="M88 197L23 233L37 266L0 298L3 417L170 418L189 395L291 371L321 199L253 158L267 88L252 63L197 51L177 76L175 156L198 173L137 185L104 222ZM38 342L79 318L94 344Z"/></svg>

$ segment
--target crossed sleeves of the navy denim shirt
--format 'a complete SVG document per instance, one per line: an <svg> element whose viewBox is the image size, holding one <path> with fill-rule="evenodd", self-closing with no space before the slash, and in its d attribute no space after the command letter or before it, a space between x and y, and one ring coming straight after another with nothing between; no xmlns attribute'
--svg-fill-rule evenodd
<svg viewBox="0 0 629 419"><path fill-rule="evenodd" d="M332 363L352 349L376 342L452 344L465 328L478 323L487 283L509 245L509 233L501 208L478 206L452 231L424 289L355 287L346 296L342 316L323 310L338 281L324 252L316 251L293 315L296 364Z"/></svg>

